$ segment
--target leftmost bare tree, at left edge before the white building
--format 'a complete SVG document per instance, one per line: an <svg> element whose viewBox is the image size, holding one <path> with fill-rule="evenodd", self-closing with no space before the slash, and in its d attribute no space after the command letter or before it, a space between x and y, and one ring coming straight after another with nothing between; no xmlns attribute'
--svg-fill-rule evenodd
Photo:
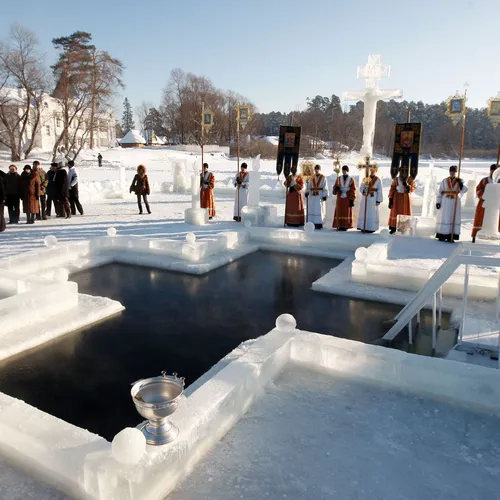
<svg viewBox="0 0 500 500"><path fill-rule="evenodd" d="M20 25L0 44L0 144L12 161L23 151L27 157L35 144L47 84L43 59L34 33Z"/></svg>

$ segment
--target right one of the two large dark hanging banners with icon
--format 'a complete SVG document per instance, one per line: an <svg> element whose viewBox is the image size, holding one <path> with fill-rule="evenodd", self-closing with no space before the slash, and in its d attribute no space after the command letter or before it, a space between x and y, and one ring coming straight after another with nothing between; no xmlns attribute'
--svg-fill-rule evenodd
<svg viewBox="0 0 500 500"><path fill-rule="evenodd" d="M418 158L420 156L421 123L397 123L394 134L394 151L392 153L391 177L398 175L400 167L406 176L415 179L418 174Z"/></svg>

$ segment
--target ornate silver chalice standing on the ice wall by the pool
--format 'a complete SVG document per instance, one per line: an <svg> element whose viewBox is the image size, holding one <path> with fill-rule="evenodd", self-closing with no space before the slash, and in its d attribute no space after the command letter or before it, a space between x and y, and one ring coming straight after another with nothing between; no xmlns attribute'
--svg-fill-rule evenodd
<svg viewBox="0 0 500 500"><path fill-rule="evenodd" d="M146 442L160 446L172 442L179 429L167 417L177 410L179 399L184 392L184 377L177 373L138 380L132 384L130 394L136 410L147 420L137 426Z"/></svg>

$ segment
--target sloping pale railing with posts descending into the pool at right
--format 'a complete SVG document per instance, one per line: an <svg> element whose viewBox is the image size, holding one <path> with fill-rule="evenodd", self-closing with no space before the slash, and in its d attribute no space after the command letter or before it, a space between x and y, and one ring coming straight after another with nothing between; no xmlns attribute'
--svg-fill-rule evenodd
<svg viewBox="0 0 500 500"><path fill-rule="evenodd" d="M420 311L432 298L432 348L436 348L437 327L441 328L443 307L443 285L461 265L465 266L464 294L459 326L459 344L463 341L464 324L467 316L467 299L469 295L470 266L500 268L500 249L498 246L477 243L457 243L456 248L443 264L431 276L427 284L406 304L395 316L395 323L384 335L384 340L392 341L408 325L408 340L412 344L412 319L420 318ZM500 273L497 281L495 317L500 320ZM500 340L500 332L499 332Z"/></svg>

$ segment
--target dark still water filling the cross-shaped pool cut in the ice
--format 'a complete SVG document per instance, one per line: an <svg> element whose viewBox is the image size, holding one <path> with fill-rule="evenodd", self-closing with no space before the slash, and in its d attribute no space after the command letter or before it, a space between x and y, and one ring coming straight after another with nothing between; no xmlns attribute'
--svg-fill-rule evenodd
<svg viewBox="0 0 500 500"><path fill-rule="evenodd" d="M302 330L376 341L400 307L309 290L337 264L257 252L204 276L122 264L75 274L81 293L116 299L125 311L0 362L0 391L111 439L141 421L131 382L166 370L189 385L282 313Z"/></svg>

